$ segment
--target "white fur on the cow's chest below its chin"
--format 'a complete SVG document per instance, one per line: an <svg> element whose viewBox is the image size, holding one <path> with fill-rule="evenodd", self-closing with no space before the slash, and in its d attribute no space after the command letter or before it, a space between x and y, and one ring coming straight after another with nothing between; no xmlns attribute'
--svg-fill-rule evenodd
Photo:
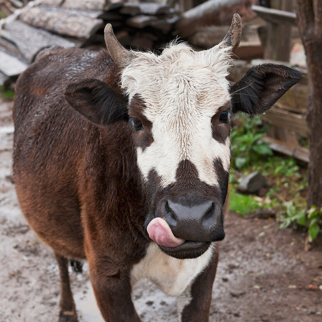
<svg viewBox="0 0 322 322"><path fill-rule="evenodd" d="M131 270L132 286L141 278L150 279L169 296L179 296L193 279L204 270L213 254L213 247L200 257L178 260L166 255L155 242L147 248L147 254Z"/></svg>

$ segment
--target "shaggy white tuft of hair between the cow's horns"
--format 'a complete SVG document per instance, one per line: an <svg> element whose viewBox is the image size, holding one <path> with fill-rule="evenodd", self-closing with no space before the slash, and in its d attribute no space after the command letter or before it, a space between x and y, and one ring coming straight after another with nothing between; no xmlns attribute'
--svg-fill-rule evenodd
<svg viewBox="0 0 322 322"><path fill-rule="evenodd" d="M159 56L153 52L135 52L135 58L122 72L122 88L131 99L137 90L141 95L143 91L151 90L151 82L157 84L168 78L199 80L203 85L218 81L227 87L225 77L230 67L231 47L220 46L221 43L209 50L196 52L188 44L174 41Z"/></svg>

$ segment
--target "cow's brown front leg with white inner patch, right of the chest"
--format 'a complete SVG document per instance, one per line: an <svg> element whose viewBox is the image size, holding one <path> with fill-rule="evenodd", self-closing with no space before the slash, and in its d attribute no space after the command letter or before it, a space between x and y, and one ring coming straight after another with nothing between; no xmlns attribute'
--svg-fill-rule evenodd
<svg viewBox="0 0 322 322"><path fill-rule="evenodd" d="M178 296L180 322L208 322L212 297L213 281L218 263L215 251L208 267Z"/></svg>

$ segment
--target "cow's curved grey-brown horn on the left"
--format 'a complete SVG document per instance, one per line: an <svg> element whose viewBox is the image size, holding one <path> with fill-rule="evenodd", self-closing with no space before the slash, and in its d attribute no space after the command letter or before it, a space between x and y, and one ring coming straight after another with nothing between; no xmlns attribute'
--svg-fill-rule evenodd
<svg viewBox="0 0 322 322"><path fill-rule="evenodd" d="M125 49L116 39L112 25L107 24L104 29L104 38L106 47L109 50L109 54L111 55L113 61L120 68L124 68L134 57L134 54L129 50Z"/></svg>

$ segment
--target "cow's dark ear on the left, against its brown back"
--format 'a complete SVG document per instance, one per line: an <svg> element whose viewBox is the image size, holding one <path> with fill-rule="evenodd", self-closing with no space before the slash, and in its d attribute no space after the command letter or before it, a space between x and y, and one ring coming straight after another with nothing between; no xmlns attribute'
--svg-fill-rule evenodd
<svg viewBox="0 0 322 322"><path fill-rule="evenodd" d="M105 126L128 119L127 99L96 79L69 84L63 92L67 103L90 122Z"/></svg>

